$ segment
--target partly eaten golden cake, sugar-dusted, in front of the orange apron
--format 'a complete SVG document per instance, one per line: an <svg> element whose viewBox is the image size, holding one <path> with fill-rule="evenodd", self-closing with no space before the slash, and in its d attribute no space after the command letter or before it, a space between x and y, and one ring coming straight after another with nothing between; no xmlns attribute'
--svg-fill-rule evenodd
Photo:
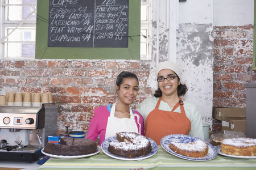
<svg viewBox="0 0 256 170"><path fill-rule="evenodd" d="M169 147L177 154L199 158L208 154L208 145L202 139L197 139L194 142L179 143L171 142Z"/></svg>

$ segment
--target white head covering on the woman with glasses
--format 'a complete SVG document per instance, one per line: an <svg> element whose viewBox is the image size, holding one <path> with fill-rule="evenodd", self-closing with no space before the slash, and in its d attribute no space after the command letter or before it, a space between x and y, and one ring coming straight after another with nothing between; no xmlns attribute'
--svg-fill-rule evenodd
<svg viewBox="0 0 256 170"><path fill-rule="evenodd" d="M159 71L163 70L163 69L170 69L172 71L174 71L177 76L179 76L179 78L181 78L181 70L180 70L180 67L172 62L172 61L164 61L164 62L160 62L156 68L155 68L155 76L158 77L158 73Z"/></svg>

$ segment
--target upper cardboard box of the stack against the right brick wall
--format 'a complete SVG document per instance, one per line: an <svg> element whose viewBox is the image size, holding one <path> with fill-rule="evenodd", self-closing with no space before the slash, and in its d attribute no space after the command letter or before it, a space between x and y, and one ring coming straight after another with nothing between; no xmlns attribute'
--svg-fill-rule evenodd
<svg viewBox="0 0 256 170"><path fill-rule="evenodd" d="M246 117L246 109L213 107L213 118L222 121L224 117Z"/></svg>

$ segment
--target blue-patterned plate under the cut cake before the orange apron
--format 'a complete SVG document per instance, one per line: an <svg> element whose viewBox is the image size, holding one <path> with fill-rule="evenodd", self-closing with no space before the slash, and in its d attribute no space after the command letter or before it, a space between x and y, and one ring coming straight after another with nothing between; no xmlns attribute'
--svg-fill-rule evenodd
<svg viewBox="0 0 256 170"><path fill-rule="evenodd" d="M163 137L161 139L160 143L161 143L161 146L164 148L164 150L166 150L170 154L177 156L179 158L193 160L193 161L206 161L206 160L212 160L212 159L216 158L216 156L218 155L216 148L206 141L204 141L204 142L206 142L208 145L208 148L209 148L208 154L204 157L199 157L199 158L194 158L194 157L177 154L176 152L171 150L171 148L169 147L171 142L190 143L190 142L196 141L197 139L200 139L200 138L192 137L189 135L173 134L173 135L167 135L166 137ZM202 140L202 139L200 139L200 140Z"/></svg>

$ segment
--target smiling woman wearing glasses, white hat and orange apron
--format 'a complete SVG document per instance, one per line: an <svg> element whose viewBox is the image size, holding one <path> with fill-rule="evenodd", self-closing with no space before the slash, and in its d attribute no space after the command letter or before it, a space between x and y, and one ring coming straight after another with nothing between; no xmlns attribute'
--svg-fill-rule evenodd
<svg viewBox="0 0 256 170"><path fill-rule="evenodd" d="M196 105L181 99L187 86L181 84L181 70L174 62L159 63L155 74L158 90L136 108L145 121L145 136L158 145L169 134L187 134L204 139L201 114Z"/></svg>

